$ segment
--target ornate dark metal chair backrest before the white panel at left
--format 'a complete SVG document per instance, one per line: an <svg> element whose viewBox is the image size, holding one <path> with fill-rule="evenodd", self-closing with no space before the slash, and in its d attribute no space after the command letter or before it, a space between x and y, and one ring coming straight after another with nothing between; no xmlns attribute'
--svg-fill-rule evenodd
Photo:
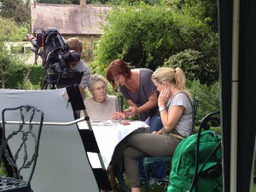
<svg viewBox="0 0 256 192"><path fill-rule="evenodd" d="M15 179L30 184L38 158L44 112L29 105L4 108L1 160L12 167ZM24 172L28 177L23 177Z"/></svg>

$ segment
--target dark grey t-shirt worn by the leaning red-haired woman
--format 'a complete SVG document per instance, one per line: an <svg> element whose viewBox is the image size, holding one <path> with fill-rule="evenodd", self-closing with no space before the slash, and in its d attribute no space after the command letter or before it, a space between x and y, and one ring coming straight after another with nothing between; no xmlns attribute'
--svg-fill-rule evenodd
<svg viewBox="0 0 256 192"><path fill-rule="evenodd" d="M120 91L125 96L126 100L131 100L136 103L137 106L142 106L146 102L148 102L149 96L152 96L154 91L156 91L156 87L151 79L153 71L148 68L139 68L140 70L140 84L137 92L131 93L125 85L120 85ZM148 117L158 115L160 116L158 107L152 108L144 113L139 113L139 119L145 121Z"/></svg>

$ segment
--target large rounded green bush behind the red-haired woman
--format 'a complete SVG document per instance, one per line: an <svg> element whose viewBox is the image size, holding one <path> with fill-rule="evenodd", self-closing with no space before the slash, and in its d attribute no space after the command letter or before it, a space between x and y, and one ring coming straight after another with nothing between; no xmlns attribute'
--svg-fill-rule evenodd
<svg viewBox="0 0 256 192"><path fill-rule="evenodd" d="M185 49L200 51L209 65L218 63L218 35L198 18L165 3L115 7L107 20L92 72L104 73L116 58L154 70Z"/></svg>

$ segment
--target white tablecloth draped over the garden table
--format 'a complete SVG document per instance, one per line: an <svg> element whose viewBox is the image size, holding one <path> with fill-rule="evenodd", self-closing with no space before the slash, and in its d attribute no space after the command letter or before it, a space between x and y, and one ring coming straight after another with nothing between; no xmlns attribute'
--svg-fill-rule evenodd
<svg viewBox="0 0 256 192"><path fill-rule="evenodd" d="M115 146L132 131L138 128L148 128L143 121L129 121L130 125L122 125L122 121L91 122L96 142L100 149L105 168L108 167ZM88 129L86 121L80 122L79 129ZM88 153L90 164L93 168L101 168L97 154Z"/></svg>

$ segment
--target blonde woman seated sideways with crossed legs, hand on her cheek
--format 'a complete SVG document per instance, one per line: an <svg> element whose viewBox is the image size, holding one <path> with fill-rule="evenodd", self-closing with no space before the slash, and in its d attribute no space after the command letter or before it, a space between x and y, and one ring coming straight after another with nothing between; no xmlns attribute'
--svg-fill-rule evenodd
<svg viewBox="0 0 256 192"><path fill-rule="evenodd" d="M145 156L169 157L177 144L188 137L193 125L193 106L186 77L179 67L157 69L152 80L160 92L158 106L164 127L152 133L133 133L119 143L113 153L109 168L124 157L125 172L131 184L131 192L140 191L137 159Z"/></svg>

